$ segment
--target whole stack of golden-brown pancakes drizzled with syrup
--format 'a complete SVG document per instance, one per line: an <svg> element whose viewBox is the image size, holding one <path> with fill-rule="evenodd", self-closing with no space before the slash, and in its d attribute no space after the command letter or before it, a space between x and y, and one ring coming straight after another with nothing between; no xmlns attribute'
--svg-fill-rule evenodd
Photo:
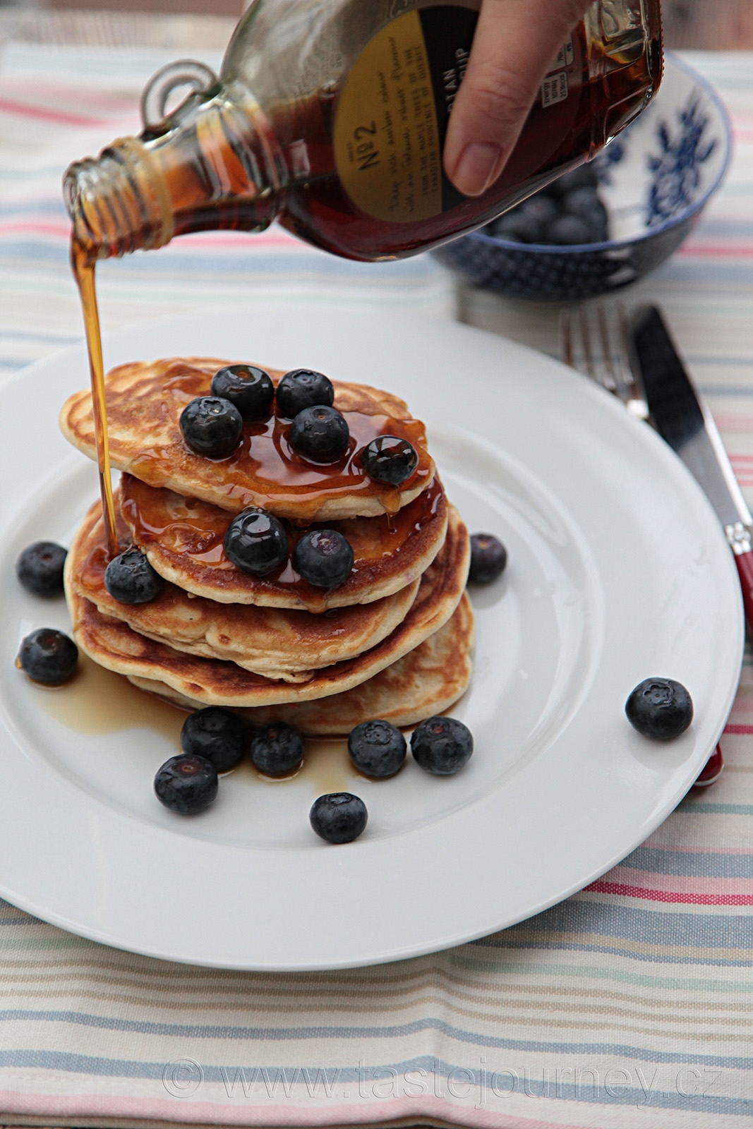
<svg viewBox="0 0 753 1129"><path fill-rule="evenodd" d="M228 458L207 458L186 446L180 415L210 394L227 364L170 359L108 374L111 461L123 472L115 496L121 548L137 545L166 584L147 604L110 595L96 502L65 566L79 647L186 708L242 708L253 723L289 721L307 734L345 734L377 717L408 726L447 709L471 677L470 546L423 425L388 393L333 382L351 437L336 464L303 460L288 443L290 421L274 414L244 423ZM282 376L266 371L275 384ZM89 392L67 401L61 428L96 461ZM360 465L359 452L379 435L405 438L418 452L401 487L374 482ZM288 561L264 578L236 567L224 549L234 515L249 506L274 514L288 534ZM338 530L353 549L340 587L314 587L292 567L296 541L312 527Z"/></svg>

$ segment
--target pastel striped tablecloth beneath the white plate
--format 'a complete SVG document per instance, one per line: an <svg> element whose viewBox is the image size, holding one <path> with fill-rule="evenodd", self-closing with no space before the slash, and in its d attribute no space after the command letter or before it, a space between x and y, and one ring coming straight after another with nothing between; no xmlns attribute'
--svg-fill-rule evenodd
<svg viewBox="0 0 753 1129"><path fill-rule="evenodd" d="M134 96L164 60L158 50L6 44L0 371L79 338L60 173L135 125ZM692 239L631 297L667 310L753 489L753 55L691 61L733 112L735 165ZM452 315L454 301L428 259L362 268L277 231L176 240L100 274L108 327L254 291L411 303L435 316ZM464 310L552 345L551 310L472 294ZM753 1123L752 735L746 659L719 784L691 793L639 850L561 905L400 964L208 971L105 948L0 903L0 1120Z"/></svg>

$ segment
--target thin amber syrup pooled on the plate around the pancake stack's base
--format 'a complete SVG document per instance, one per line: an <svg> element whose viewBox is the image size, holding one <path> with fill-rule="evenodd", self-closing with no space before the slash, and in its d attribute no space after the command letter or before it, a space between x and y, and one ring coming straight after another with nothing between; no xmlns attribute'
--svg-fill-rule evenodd
<svg viewBox="0 0 753 1129"><path fill-rule="evenodd" d="M32 689L40 709L67 729L94 735L152 729L181 751L181 729L189 711L139 690L122 674L106 671L86 655L79 655L78 671L70 682L62 686L32 683ZM310 781L317 796L349 791L356 781L364 780L350 762L348 742L339 737L307 737L303 763L289 776L263 776L251 761L224 776L243 776L252 784L275 787L292 780Z"/></svg>

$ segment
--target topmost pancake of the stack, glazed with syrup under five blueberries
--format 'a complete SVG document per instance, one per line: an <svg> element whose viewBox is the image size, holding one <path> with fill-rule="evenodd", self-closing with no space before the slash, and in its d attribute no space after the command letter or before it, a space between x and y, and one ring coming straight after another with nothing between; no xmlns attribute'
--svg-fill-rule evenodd
<svg viewBox="0 0 753 1129"><path fill-rule="evenodd" d="M243 439L227 458L207 458L186 446L178 419L195 396L210 393L213 374L230 364L213 358L137 361L106 377L107 434L114 467L151 487L167 487L239 513L262 506L278 517L307 522L394 514L431 482L435 465L423 425L406 404L387 392L333 380L334 406L350 429L347 455L331 465L309 463L288 443L290 421L270 417L244 423ZM277 383L282 373L268 369ZM60 413L63 435L96 461L91 393L77 392ZM402 487L373 481L359 452L379 435L413 444L419 465Z"/></svg>

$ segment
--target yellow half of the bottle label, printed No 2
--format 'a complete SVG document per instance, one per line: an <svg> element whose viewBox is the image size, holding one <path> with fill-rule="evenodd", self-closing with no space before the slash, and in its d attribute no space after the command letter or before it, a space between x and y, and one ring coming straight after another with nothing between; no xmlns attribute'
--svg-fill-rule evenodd
<svg viewBox="0 0 753 1129"><path fill-rule="evenodd" d="M368 216L410 224L441 212L441 143L418 11L377 32L356 60L335 115L334 157Z"/></svg>

